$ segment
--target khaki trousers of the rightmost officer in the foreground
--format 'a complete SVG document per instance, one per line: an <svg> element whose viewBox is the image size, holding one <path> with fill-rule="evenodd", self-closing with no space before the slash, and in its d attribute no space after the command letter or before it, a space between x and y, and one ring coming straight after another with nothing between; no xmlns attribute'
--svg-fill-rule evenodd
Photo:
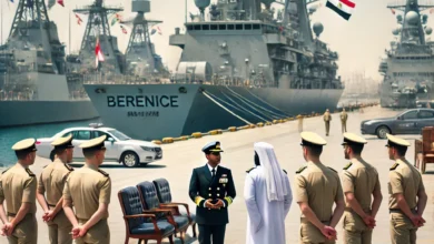
<svg viewBox="0 0 434 244"><path fill-rule="evenodd" d="M403 213L391 213L392 244L416 244L416 232L412 221Z"/></svg>

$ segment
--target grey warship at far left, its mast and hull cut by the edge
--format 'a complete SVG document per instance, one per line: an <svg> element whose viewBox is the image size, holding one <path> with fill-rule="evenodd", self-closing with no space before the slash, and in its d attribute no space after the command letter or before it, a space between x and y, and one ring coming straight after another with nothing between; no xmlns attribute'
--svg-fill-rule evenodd
<svg viewBox="0 0 434 244"><path fill-rule="evenodd" d="M20 0L0 47L0 128L98 118L43 0Z"/></svg>

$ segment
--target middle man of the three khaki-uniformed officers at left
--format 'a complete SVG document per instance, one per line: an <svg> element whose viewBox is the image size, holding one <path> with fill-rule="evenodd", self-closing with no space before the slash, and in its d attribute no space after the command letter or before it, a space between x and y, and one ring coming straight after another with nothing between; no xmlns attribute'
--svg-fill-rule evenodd
<svg viewBox="0 0 434 244"><path fill-rule="evenodd" d="M42 218L48 223L51 244L72 243L72 236L69 234L72 225L62 210L65 182L73 171L68 165L72 161L73 145L71 142L72 135L70 134L51 143L55 146L55 161L43 169L38 181L37 197L45 211ZM46 192L47 199L45 197Z"/></svg>

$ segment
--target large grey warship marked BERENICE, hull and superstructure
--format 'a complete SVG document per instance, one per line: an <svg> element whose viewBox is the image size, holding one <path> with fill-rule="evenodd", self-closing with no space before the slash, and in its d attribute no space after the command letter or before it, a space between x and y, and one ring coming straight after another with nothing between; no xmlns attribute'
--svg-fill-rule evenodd
<svg viewBox="0 0 434 244"><path fill-rule="evenodd" d="M85 89L106 125L142 140L334 110L338 54L319 40L323 24L310 27L314 2L195 0L200 14L169 39L183 49L169 80L98 79ZM132 9L149 12L150 2L134 0Z"/></svg>

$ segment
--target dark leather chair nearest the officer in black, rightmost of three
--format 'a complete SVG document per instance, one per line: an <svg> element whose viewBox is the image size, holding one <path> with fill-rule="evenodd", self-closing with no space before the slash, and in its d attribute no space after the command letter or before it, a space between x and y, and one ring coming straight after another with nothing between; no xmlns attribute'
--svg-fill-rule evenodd
<svg viewBox="0 0 434 244"><path fill-rule="evenodd" d="M171 202L171 193L170 193L170 185L169 182L166 179L157 179L154 180L154 185L157 190L158 200L160 201L160 205L164 207L172 207L175 211L172 212L174 215L183 215L187 216L189 220L189 225L193 227L193 237L196 237L196 214L190 213L188 209L188 204L186 203L175 203ZM179 205L184 206L187 211L187 213L183 213L179 211Z"/></svg>

